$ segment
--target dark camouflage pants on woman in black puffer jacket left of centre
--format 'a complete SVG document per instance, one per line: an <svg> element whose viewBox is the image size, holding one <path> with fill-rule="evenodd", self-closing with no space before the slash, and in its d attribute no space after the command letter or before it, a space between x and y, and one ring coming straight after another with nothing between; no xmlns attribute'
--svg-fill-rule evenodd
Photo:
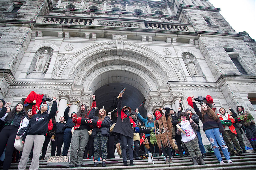
<svg viewBox="0 0 256 170"><path fill-rule="evenodd" d="M94 146L94 160L98 160L100 157L99 151L101 150L101 158L107 159L107 140L108 136L102 136L101 132L97 132L95 137L93 138L93 146Z"/></svg>

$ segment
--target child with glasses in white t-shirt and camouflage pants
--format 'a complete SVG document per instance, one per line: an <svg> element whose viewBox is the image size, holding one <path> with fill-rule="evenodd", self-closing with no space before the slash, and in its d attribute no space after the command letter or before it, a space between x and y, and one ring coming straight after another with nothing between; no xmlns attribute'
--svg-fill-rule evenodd
<svg viewBox="0 0 256 170"><path fill-rule="evenodd" d="M205 162L199 149L197 134L194 130L198 128L198 125L191 118L189 118L188 114L185 112L182 112L179 115L179 118L181 119L181 122L179 123L179 127L181 127L181 129L177 128L177 134L181 135L181 140L189 151L194 163L193 165L198 165L197 158L200 164L204 165ZM183 132L181 132L182 130Z"/></svg>

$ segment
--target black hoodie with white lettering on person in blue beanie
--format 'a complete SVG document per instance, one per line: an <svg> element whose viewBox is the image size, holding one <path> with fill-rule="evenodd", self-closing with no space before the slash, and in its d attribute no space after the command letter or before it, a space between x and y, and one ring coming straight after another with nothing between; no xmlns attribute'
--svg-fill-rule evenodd
<svg viewBox="0 0 256 170"><path fill-rule="evenodd" d="M25 141L26 135L46 135L49 121L56 115L56 111L57 102L53 101L50 114L47 114L47 112L43 112L42 114L38 112L37 114L34 114L27 126L27 130L22 141Z"/></svg>

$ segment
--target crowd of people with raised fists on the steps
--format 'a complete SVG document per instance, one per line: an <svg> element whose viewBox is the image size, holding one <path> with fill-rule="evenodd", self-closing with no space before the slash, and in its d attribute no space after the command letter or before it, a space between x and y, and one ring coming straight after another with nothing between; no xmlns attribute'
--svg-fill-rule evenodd
<svg viewBox="0 0 256 170"><path fill-rule="evenodd" d="M130 107L122 106L121 93L117 112L114 113L107 113L104 108L98 110L94 95L92 99L90 108L87 109L82 104L79 111L70 116L71 104L67 104L58 121L55 120L58 111L57 98L54 96L50 111L48 103L41 103L37 108L36 100L26 112L23 103L18 103L11 109L10 102L0 99L0 163L3 170L9 169L11 162L17 161L18 157L18 169L25 169L29 158L32 159L30 169L38 169L39 160L45 159L49 142L51 156L55 156L56 149L56 156L66 156L70 147L70 162L67 167L81 167L83 159L90 158L93 159L94 167L98 166L99 160L102 160L101 165L105 167L107 159L115 158L114 152L119 145L119 157L123 159L124 166L128 165L127 160L129 165L134 165L134 159L140 159L140 155L149 153L153 156L162 155L167 164L173 163L173 155L189 155L193 165L202 165L205 164L206 150L202 143L201 128L220 164L224 163L221 152L228 163L232 163L230 156L247 153L243 132L251 147L256 150L255 122L242 106L237 106L236 112L224 107L219 108L218 112L214 103L200 102L199 109L194 96L191 96L192 103L189 105L192 108L186 108L185 112L182 112L182 102L179 100L178 110L157 108L153 113L148 112L144 118L137 108L132 111ZM199 119L202 127L199 126ZM135 133L137 127L146 127L147 133ZM20 138L24 147L19 152L15 150L14 142ZM173 149L174 139L177 143L176 150ZM14 159L13 155L16 155Z"/></svg>

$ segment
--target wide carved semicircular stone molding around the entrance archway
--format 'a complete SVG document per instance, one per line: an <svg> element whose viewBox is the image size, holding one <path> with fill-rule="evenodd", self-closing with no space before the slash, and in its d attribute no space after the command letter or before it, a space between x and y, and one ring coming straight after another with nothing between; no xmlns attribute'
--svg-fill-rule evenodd
<svg viewBox="0 0 256 170"><path fill-rule="evenodd" d="M84 80L91 82L97 78L95 76L111 69L126 70L127 73L138 75L147 80L147 84L152 84L151 90L157 88L153 84L166 86L168 81L186 81L161 54L146 46L126 41L123 41L121 55L117 55L116 41L101 42L79 49L63 63L57 78L74 79L75 84L81 85ZM89 90L87 87L85 86L85 90Z"/></svg>

